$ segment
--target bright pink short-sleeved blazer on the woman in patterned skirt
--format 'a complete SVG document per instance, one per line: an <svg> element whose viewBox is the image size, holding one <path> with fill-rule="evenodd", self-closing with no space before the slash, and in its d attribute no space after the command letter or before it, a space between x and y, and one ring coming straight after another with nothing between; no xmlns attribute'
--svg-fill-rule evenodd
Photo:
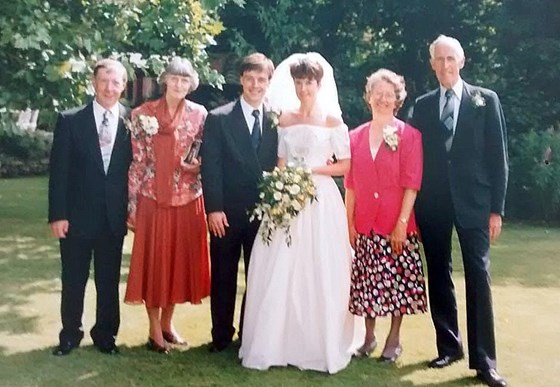
<svg viewBox="0 0 560 387"><path fill-rule="evenodd" d="M393 151L382 143L375 160L369 149L366 122L350 132L352 164L344 185L355 195L355 226L361 234L390 234L398 221L405 188L419 190L422 182L422 137L418 130L395 118L399 145ZM407 232L415 232L414 213Z"/></svg>

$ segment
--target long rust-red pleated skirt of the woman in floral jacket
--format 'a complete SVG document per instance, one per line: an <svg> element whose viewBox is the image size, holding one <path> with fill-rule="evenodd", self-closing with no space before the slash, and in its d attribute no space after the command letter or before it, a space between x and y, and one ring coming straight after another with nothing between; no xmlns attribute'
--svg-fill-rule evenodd
<svg viewBox="0 0 560 387"><path fill-rule="evenodd" d="M138 198L124 301L164 308L210 295L208 234L202 197L180 207Z"/></svg>

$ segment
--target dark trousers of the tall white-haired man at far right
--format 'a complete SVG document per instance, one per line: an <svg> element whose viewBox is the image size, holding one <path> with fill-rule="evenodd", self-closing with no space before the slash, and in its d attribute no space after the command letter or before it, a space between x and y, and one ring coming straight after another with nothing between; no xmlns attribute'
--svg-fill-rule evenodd
<svg viewBox="0 0 560 387"><path fill-rule="evenodd" d="M452 279L453 216L419 222L428 266L432 321L440 356L463 352ZM494 315L490 290L490 240L487 228L456 225L465 270L469 367L496 368Z"/></svg>

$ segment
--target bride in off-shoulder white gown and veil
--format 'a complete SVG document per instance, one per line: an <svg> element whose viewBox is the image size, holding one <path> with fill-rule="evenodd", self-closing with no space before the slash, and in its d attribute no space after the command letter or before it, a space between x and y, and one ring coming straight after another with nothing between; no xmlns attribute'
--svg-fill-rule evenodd
<svg viewBox="0 0 560 387"><path fill-rule="evenodd" d="M283 230L269 245L257 235L239 357L248 368L292 365L335 373L350 362L358 324L348 312L346 212L331 177L343 175L350 165L332 68L316 53L290 56L274 73L269 103L283 112L279 165L311 168L318 200L292 220L290 246ZM333 154L334 164L328 162Z"/></svg>

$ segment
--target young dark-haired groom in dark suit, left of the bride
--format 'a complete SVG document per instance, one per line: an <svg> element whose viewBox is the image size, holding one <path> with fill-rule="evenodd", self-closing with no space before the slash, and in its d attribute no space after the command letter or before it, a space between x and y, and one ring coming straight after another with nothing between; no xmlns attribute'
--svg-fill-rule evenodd
<svg viewBox="0 0 560 387"><path fill-rule="evenodd" d="M263 54L245 57L241 97L212 110L204 125L201 172L212 264L211 352L224 350L233 340L239 258L243 252L247 273L259 226L249 221L248 211L258 201L263 171L276 166L278 133L263 104L273 71L272 61Z"/></svg>

